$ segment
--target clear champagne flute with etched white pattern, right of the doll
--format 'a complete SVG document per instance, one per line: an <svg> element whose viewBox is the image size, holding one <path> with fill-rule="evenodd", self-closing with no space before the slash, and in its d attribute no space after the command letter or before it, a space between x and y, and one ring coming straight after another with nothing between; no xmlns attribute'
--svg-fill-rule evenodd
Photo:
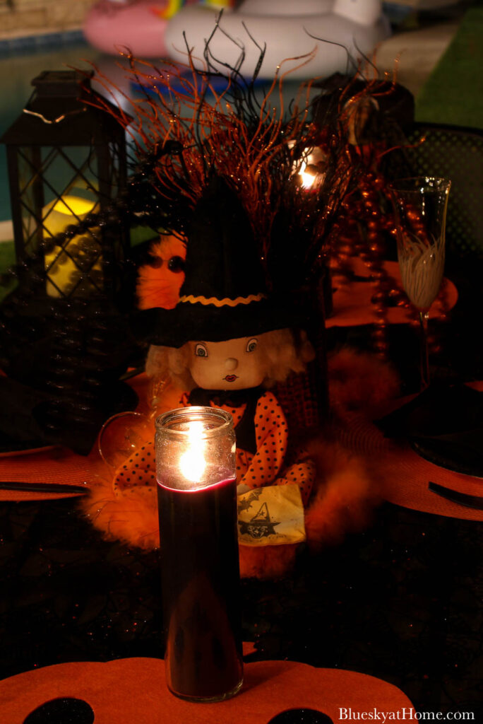
<svg viewBox="0 0 483 724"><path fill-rule="evenodd" d="M445 266L448 179L419 176L389 185L396 214L401 282L419 314L421 387L429 385L429 307L440 290Z"/></svg>

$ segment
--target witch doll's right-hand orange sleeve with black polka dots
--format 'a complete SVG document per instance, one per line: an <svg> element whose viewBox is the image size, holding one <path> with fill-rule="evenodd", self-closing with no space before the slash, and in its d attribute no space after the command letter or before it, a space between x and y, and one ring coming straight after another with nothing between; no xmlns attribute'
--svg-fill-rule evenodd
<svg viewBox="0 0 483 724"><path fill-rule="evenodd" d="M265 392L258 400L255 411L255 437L257 452L239 481L249 488L273 483L283 465L287 449L287 421L272 392Z"/></svg>

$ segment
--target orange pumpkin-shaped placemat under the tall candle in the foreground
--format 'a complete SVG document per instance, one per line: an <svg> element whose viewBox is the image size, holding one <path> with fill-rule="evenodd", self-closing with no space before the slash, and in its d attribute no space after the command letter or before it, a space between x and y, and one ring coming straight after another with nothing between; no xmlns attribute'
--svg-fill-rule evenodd
<svg viewBox="0 0 483 724"><path fill-rule="evenodd" d="M393 684L362 673L317 669L293 661L260 661L244 667L242 691L217 704L193 704L168 692L161 659L73 662L27 671L0 682L0 721L21 724L56 697L74 696L93 708L95 724L268 724L279 712L315 709L334 723L340 709L414 714ZM396 717L393 717L396 718Z"/></svg>

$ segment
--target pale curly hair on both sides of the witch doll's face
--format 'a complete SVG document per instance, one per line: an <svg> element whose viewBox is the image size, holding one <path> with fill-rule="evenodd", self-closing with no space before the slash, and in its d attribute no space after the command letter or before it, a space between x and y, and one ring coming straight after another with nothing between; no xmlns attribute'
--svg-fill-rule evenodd
<svg viewBox="0 0 483 724"><path fill-rule="evenodd" d="M291 329L275 329L257 334L257 338L262 340L261 349L267 367L264 387L284 382L292 372L304 372L307 362L315 356L304 332L296 334ZM146 358L146 374L152 379L169 379L177 387L190 391L195 382L189 372L189 361L189 342L179 348L151 345Z"/></svg>

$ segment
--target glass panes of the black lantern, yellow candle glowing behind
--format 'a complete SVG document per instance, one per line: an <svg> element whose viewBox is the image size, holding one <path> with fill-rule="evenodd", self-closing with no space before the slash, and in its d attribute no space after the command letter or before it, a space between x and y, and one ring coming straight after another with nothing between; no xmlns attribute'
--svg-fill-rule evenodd
<svg viewBox="0 0 483 724"><path fill-rule="evenodd" d="M105 208L119 192L119 151L110 144L26 146L18 149L23 255L43 256L46 292L52 297L88 296L104 290L106 253L99 227L62 245L43 243Z"/></svg>

